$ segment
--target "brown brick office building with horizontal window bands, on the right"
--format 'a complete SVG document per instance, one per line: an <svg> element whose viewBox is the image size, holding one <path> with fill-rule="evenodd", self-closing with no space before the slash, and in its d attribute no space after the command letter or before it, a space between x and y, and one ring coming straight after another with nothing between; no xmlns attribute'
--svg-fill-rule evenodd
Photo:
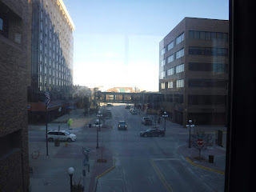
<svg viewBox="0 0 256 192"><path fill-rule="evenodd" d="M226 125L228 21L184 18L159 43L162 110L186 126Z"/></svg>

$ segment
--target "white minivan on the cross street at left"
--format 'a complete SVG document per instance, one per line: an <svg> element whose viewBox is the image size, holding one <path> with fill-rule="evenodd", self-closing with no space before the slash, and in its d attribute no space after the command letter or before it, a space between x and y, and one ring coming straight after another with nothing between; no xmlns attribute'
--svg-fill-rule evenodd
<svg viewBox="0 0 256 192"><path fill-rule="evenodd" d="M66 130L49 130L47 134L49 142L53 142L55 139L58 139L59 141L74 142L77 138L75 134L71 134Z"/></svg>

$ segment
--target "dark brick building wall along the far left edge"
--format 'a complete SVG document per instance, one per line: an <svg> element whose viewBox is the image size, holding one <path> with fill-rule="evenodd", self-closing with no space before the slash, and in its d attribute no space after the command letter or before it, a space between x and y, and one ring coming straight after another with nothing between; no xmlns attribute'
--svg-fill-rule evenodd
<svg viewBox="0 0 256 192"><path fill-rule="evenodd" d="M27 0L0 0L0 191L28 191L30 186L28 11Z"/></svg>

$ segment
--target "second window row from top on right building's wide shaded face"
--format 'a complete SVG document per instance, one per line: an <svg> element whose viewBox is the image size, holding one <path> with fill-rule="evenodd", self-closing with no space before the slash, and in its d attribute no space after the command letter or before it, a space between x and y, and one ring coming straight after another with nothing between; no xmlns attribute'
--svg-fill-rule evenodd
<svg viewBox="0 0 256 192"><path fill-rule="evenodd" d="M190 46L189 54L227 56L227 48Z"/></svg>

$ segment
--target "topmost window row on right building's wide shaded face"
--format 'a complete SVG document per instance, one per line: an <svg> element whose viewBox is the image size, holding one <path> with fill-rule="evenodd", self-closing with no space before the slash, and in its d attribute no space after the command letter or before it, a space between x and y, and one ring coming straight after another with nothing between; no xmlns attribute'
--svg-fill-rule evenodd
<svg viewBox="0 0 256 192"><path fill-rule="evenodd" d="M228 42L228 34L222 32L190 30L189 38L202 40L218 40Z"/></svg>

